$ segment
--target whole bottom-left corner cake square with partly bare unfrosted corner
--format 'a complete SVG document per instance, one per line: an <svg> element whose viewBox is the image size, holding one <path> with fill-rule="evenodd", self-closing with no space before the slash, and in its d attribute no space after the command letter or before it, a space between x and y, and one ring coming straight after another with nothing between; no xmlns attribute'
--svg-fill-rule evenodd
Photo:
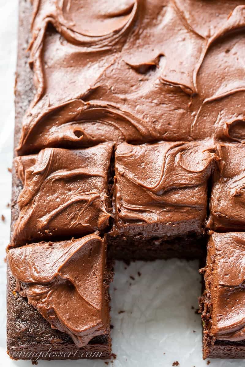
<svg viewBox="0 0 245 367"><path fill-rule="evenodd" d="M14 359L78 359L111 353L106 241L12 248L8 261L7 347Z"/></svg>

